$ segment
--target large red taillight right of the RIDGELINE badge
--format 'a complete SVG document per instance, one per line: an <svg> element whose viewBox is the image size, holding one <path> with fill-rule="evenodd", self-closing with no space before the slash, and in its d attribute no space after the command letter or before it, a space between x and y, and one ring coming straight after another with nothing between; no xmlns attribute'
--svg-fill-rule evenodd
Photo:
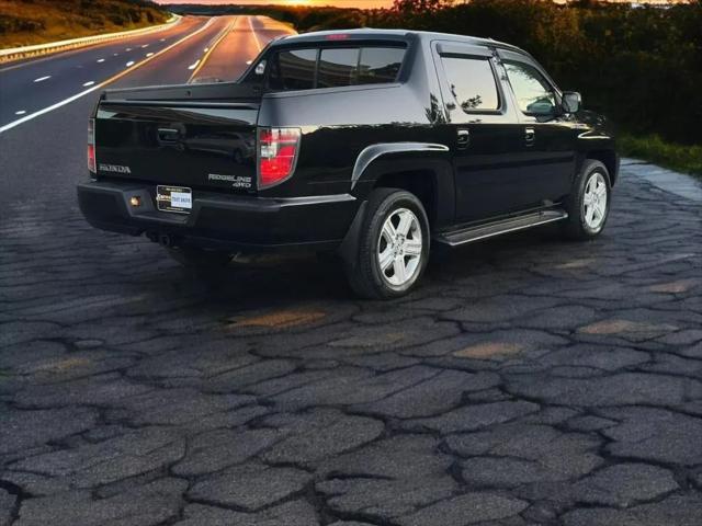
<svg viewBox="0 0 702 526"><path fill-rule="evenodd" d="M299 150L299 128L259 128L259 188L293 174Z"/></svg>

